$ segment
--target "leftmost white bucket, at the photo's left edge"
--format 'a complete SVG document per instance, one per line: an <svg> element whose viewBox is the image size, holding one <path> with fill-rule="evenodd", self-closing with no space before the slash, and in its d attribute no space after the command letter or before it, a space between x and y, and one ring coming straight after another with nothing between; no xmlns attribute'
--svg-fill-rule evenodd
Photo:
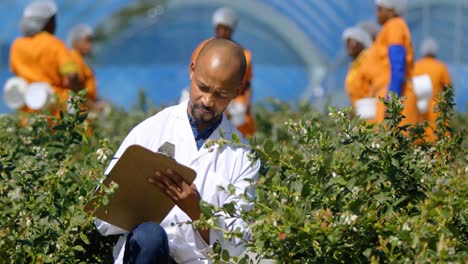
<svg viewBox="0 0 468 264"><path fill-rule="evenodd" d="M24 94L28 83L21 77L11 77L3 86L3 100L8 108L16 110L24 106Z"/></svg>

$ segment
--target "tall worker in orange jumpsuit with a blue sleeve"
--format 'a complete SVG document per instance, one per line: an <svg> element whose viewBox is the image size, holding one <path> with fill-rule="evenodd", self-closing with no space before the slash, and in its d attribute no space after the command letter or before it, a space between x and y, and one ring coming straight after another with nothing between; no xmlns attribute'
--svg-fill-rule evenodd
<svg viewBox="0 0 468 264"><path fill-rule="evenodd" d="M376 0L377 20L382 25L374 44L369 50L368 68L378 69L372 86L377 98L388 99L389 93L404 96L405 118L400 125L416 124L419 111L416 105L411 76L413 70L413 48L411 34L401 17L406 8L405 0ZM372 69L371 69L372 70ZM382 122L386 107L380 100L377 103L376 121Z"/></svg>

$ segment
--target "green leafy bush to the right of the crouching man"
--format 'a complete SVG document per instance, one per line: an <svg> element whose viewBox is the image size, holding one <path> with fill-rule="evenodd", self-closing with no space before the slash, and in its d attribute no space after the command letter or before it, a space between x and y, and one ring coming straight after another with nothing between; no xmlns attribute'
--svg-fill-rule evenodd
<svg viewBox="0 0 468 264"><path fill-rule="evenodd" d="M464 131L451 126L450 89L445 96L433 143L421 141L422 125L398 126L396 98L384 125L350 119L349 109L323 116L273 105L283 110L260 135L280 136L252 140L264 170L255 208L237 215L250 223L250 251L278 263L466 261L468 156Z"/></svg>

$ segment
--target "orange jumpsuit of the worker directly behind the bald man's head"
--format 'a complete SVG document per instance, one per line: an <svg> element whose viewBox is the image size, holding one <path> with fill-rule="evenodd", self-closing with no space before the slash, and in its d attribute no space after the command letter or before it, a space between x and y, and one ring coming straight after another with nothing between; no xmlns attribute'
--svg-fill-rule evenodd
<svg viewBox="0 0 468 264"><path fill-rule="evenodd" d="M205 44L213 38L209 38L204 40L202 43L198 45L198 47L192 53L192 62L196 61L198 55L200 54L201 49ZM250 81L252 80L253 73L252 73L252 54L249 50L243 48L244 56L246 60L246 68L245 68L245 75L244 79L242 80L242 87L239 91L239 95L234 99L234 101L242 102L246 108L246 117L245 123L238 126L237 129L242 133L244 137L253 136L255 134L255 122L252 118L252 114L250 111L251 106L251 88L250 88Z"/></svg>

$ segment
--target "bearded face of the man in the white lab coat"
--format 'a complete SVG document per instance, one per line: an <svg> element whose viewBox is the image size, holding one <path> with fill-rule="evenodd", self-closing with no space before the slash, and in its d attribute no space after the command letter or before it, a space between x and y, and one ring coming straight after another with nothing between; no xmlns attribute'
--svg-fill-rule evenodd
<svg viewBox="0 0 468 264"><path fill-rule="evenodd" d="M217 67L216 60L190 65L189 114L204 129L215 123L237 95L240 87L236 71ZM231 67L232 68L232 67Z"/></svg>

